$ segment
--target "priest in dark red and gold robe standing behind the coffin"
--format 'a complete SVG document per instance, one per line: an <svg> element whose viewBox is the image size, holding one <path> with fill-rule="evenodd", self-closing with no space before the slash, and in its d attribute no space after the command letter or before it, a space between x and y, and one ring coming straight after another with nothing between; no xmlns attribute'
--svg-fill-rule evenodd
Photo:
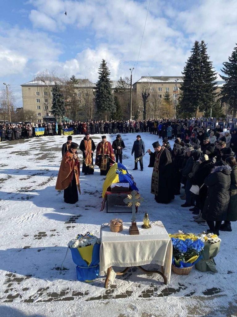
<svg viewBox="0 0 237 317"><path fill-rule="evenodd" d="M110 142L103 135L102 141L97 145L95 165L100 167L100 175L107 175L110 166L115 164L113 148Z"/></svg>

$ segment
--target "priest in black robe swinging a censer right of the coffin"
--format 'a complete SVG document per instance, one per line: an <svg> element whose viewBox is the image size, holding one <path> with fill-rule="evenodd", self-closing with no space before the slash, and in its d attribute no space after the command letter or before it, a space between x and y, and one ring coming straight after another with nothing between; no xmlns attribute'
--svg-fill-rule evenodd
<svg viewBox="0 0 237 317"><path fill-rule="evenodd" d="M174 199L173 192L173 165L170 151L160 143L152 144L155 152L150 154L150 164L148 167L153 167L151 178L151 193L155 195L157 203L167 204Z"/></svg>

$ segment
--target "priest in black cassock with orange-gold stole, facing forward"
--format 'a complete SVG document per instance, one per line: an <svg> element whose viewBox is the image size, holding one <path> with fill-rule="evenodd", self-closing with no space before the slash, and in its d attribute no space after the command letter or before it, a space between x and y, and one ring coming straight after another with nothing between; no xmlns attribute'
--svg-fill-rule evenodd
<svg viewBox="0 0 237 317"><path fill-rule="evenodd" d="M82 151L83 163L82 173L94 174L93 152L95 150L94 141L90 138L90 133L86 132L84 139L81 141L79 149Z"/></svg>

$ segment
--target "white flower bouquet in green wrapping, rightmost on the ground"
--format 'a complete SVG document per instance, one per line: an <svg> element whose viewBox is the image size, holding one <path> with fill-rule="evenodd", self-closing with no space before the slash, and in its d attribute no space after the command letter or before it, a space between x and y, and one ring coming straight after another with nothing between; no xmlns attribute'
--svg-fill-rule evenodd
<svg viewBox="0 0 237 317"><path fill-rule="evenodd" d="M218 272L214 257L220 250L221 239L217 235L214 235L213 233L207 234L205 231L199 233L197 236L204 242L204 249L201 253L203 259L195 264L195 268L201 272Z"/></svg>

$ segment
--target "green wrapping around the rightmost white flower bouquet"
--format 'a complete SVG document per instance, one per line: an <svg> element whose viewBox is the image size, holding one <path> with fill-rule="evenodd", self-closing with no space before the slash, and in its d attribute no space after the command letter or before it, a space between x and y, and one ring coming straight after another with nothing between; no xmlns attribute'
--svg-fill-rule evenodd
<svg viewBox="0 0 237 317"><path fill-rule="evenodd" d="M212 271L214 273L218 272L216 269L216 262L214 261L214 257L218 254L220 250L220 244L221 242L216 242L214 244L204 242L204 249L201 252L201 256L203 256L203 259L195 264L195 268L198 271Z"/></svg>

